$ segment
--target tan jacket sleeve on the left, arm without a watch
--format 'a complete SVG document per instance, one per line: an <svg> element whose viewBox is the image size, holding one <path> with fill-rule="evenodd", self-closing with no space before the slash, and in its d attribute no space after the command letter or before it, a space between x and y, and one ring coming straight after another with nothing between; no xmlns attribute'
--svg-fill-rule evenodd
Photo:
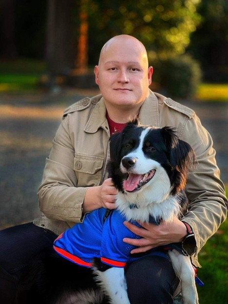
<svg viewBox="0 0 228 304"><path fill-rule="evenodd" d="M88 188L78 187L74 171L75 150L69 132L69 117L60 124L38 188L40 210L49 219L80 222Z"/></svg>

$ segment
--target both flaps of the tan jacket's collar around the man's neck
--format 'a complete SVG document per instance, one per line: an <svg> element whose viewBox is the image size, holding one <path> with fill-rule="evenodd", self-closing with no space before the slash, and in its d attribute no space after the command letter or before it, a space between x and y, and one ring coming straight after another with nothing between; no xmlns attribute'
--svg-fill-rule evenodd
<svg viewBox="0 0 228 304"><path fill-rule="evenodd" d="M145 99L140 108L139 121L143 125L159 127L158 100L156 95L151 90L149 96ZM88 133L95 133L100 127L106 129L107 131L109 130L106 119L105 101L102 95L96 103L84 131Z"/></svg>

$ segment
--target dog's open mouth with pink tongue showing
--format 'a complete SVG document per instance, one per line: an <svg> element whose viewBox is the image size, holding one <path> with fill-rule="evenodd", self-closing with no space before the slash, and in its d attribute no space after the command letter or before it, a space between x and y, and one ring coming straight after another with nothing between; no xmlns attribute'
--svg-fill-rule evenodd
<svg viewBox="0 0 228 304"><path fill-rule="evenodd" d="M146 185L153 178L155 172L156 170L152 169L145 174L129 173L128 178L123 182L124 190L128 192L140 190L142 186Z"/></svg>

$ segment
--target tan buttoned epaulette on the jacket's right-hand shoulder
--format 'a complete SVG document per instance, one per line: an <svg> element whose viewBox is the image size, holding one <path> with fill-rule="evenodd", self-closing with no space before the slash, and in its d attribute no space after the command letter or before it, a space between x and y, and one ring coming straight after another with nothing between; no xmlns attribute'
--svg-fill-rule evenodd
<svg viewBox="0 0 228 304"><path fill-rule="evenodd" d="M195 111L190 109L189 107L172 100L169 97L165 97L163 95L160 95L158 93L155 93L155 95L158 98L158 102L165 107L169 107L172 110L175 110L179 113L187 115L189 118L192 118L195 115Z"/></svg>

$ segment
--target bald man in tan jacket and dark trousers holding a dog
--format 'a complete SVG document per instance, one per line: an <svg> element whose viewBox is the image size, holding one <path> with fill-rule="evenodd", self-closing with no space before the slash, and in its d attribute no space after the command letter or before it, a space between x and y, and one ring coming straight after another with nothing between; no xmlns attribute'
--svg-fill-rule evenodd
<svg viewBox="0 0 228 304"><path fill-rule="evenodd" d="M227 215L227 199L209 133L191 109L149 90L152 67L148 67L143 44L128 35L110 39L95 66L95 82L101 95L85 98L64 112L64 119L46 160L38 189L43 215L28 223L0 231L0 298L14 303L18 282L29 264L53 246L57 235L83 221L84 214L100 207L114 209L116 189L107 175L109 136L121 130L129 117L141 124L176 127L177 135L190 143L197 156L196 170L189 176L186 192L189 211L182 221L169 225L130 223L126 227L140 239L124 238L145 252L171 242L181 242L192 232L185 249L195 266L197 254ZM14 249L13 249L14 248ZM75 276L77 274L75 273ZM145 257L126 269L131 304L173 303L179 284L169 260Z"/></svg>

